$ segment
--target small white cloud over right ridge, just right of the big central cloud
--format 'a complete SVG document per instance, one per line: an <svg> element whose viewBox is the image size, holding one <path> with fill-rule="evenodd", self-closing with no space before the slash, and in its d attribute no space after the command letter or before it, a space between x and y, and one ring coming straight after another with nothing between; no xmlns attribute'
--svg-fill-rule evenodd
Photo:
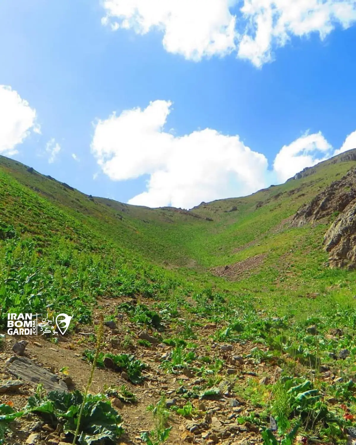
<svg viewBox="0 0 356 445"><path fill-rule="evenodd" d="M279 182L291 178L305 167L311 167L330 157L332 146L319 133L304 134L281 148L275 157L273 169Z"/></svg>

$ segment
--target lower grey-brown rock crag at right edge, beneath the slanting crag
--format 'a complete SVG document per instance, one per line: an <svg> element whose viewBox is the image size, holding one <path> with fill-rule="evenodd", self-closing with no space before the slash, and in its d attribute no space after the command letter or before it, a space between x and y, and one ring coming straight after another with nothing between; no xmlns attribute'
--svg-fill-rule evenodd
<svg viewBox="0 0 356 445"><path fill-rule="evenodd" d="M330 267L356 268L356 200L332 223L323 244Z"/></svg>

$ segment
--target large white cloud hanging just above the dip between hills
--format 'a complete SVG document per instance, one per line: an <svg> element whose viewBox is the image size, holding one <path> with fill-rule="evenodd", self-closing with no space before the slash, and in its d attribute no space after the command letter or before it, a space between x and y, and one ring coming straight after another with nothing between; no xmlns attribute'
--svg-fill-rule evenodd
<svg viewBox="0 0 356 445"><path fill-rule="evenodd" d="M190 208L201 201L249 194L265 185L267 159L239 136L214 129L174 137L164 130L169 101L154 101L98 121L92 153L112 180L149 174L130 204Z"/></svg>

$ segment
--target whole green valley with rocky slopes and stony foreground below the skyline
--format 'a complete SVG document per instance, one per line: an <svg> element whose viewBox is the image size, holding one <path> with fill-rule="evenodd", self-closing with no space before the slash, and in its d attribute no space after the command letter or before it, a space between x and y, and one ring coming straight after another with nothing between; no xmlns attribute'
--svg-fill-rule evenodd
<svg viewBox="0 0 356 445"><path fill-rule="evenodd" d="M0 156L0 444L356 443L355 215L356 149L191 210Z"/></svg>

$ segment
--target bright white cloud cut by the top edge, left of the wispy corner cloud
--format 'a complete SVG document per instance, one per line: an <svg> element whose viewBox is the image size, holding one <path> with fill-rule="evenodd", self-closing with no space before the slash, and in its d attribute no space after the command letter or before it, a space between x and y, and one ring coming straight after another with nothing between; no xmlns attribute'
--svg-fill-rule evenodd
<svg viewBox="0 0 356 445"><path fill-rule="evenodd" d="M113 30L133 28L146 34L162 30L163 46L169 53L200 60L235 49L235 16L231 0L105 0L103 24Z"/></svg>

